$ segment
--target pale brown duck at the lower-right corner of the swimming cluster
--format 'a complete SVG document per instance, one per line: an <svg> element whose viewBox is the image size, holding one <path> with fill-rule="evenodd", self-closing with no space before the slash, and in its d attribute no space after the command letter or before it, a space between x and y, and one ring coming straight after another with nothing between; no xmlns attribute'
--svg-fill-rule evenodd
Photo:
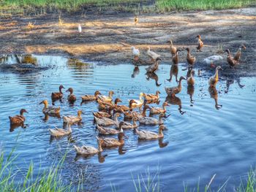
<svg viewBox="0 0 256 192"><path fill-rule="evenodd" d="M138 130L138 128L135 129L136 134L138 134L138 139L158 139L164 137L164 134L162 131L165 130L164 125L160 125L158 128L158 133L155 133L153 131L145 131L145 130Z"/></svg>

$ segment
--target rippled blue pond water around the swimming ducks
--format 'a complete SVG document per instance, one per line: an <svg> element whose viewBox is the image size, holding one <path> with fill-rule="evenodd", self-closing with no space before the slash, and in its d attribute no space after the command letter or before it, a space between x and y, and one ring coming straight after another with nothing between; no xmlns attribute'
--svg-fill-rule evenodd
<svg viewBox="0 0 256 192"><path fill-rule="evenodd" d="M83 174L85 188L89 191L111 191L111 185L115 185L117 191L135 191L132 175L144 177L146 170L153 175L159 172L162 191L183 191L184 183L194 188L199 178L203 189L214 174L211 188L216 189L228 180L227 191L233 191L241 177L245 179L249 169L255 166L255 77L221 78L216 97L208 91L206 72L199 77L196 70L195 90L187 91L184 81L181 93L170 101L166 98L165 86L177 85L174 77L171 82L166 81L170 77L170 65L159 66L156 83L156 77L147 77L146 66L135 69L131 64L104 66L74 62L60 56L35 57L39 66L50 68L24 74L0 72L0 142L7 153L16 148L15 165L20 168L16 177L26 172L31 161L37 173L39 167L46 169L68 151L62 169L63 179L73 180L75 185ZM184 69L182 64L178 68L178 77L187 75L187 71L181 70ZM67 94L64 102L56 101L55 105L61 107L61 116L76 115L82 109L83 124L72 126L70 137L52 139L48 128L61 127L62 119L45 118L39 102L50 101L50 93L59 91L59 85L74 88L78 97L73 106L67 103ZM107 149L101 157L77 157L74 144L97 145L91 114L97 111L97 103L80 102L80 96L93 94L96 90L104 94L113 90L114 98L120 98L123 104L127 104L128 99L138 99L140 92L160 91L159 106L165 99L170 102L164 139L138 142L138 137L129 130L125 131L129 139L124 147ZM216 107L216 99L222 108ZM10 128L8 116L17 115L21 108L29 112L25 114L26 128ZM157 126L140 128L157 131Z"/></svg>

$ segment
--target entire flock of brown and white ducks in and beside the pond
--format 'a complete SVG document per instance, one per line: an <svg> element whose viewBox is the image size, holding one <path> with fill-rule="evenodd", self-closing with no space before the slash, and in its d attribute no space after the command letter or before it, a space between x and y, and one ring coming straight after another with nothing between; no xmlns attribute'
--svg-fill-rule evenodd
<svg viewBox="0 0 256 192"><path fill-rule="evenodd" d="M138 17L135 17L135 24L138 23ZM81 33L82 28L79 25L78 31ZM178 49L173 45L172 40L170 39L167 41L170 43L170 54L173 61L173 65L176 66L178 64L178 52L182 51L182 49ZM134 56L134 60L138 61L140 56L140 50L138 50L135 47L132 48L132 55ZM201 52L203 49L203 40L201 39L200 35L197 35L197 45L196 50L198 52ZM230 50L226 50L227 52L227 63L231 67L234 67L239 64L239 61L241 59L241 50L246 49L244 45L241 45L239 47L238 52L235 56L233 56L230 53ZM180 77L178 80L178 85L171 88L165 88L165 92L167 93L167 96L175 97L178 93L181 92L181 81L187 80L187 84L193 86L195 84L195 79L193 77L193 74L195 71L193 70L193 67L195 66L196 58L190 53L189 47L186 48L187 50L187 63L188 63L188 69L189 72L187 74L187 78ZM150 47L147 47L146 55L148 55L149 58L151 58L151 61L154 62L154 64L148 66L146 68L147 73L154 73L157 71L159 62L161 61L161 55L154 53L150 49ZM211 57L206 58L204 61L207 64L211 64L211 66L214 66L214 62L221 60L222 57L220 55L213 55ZM173 66L172 66L173 67ZM209 78L208 84L210 88L214 88L217 85L217 82L219 81L219 69L222 69L221 66L216 67L215 74ZM177 80L177 77L176 77ZM52 93L51 99L52 101L57 101L59 99L62 99L64 97L64 93L62 90L64 89L63 85L59 86L59 92ZM69 95L67 96L67 100L69 103L74 103L77 98L75 94L73 93L72 88L68 88L66 92L69 92ZM157 103L159 104L159 94L160 92L157 91L155 94L148 94L148 93L140 93L139 99L131 99L129 100L128 106L118 104L121 101L121 99L116 98L113 100L113 91L109 91L108 96L102 95L99 91L95 91L94 95L84 95L81 96L82 101L96 101L99 105L99 111L98 112L92 112L94 116L94 120L97 126L97 131L99 132L99 137L96 137L98 147L91 147L91 146L77 146L74 145L75 151L78 155L94 155L97 153L102 152L102 150L105 147L117 147L124 145L124 137L127 137L124 134L124 130L132 129L135 131L136 134L138 134L138 139L159 139L164 137L163 131L165 130L164 122L162 118L166 118L165 115L166 107L169 106L167 102L164 102L162 104L162 107L150 107L149 104ZM59 115L61 108L60 107L54 107L49 106L48 101L44 100L40 102L39 104L44 104L44 107L42 109L42 112L45 115ZM135 109L139 109L135 111ZM149 110L150 115L159 115L159 118L149 117L146 115L146 111ZM20 115L16 115L14 117L10 118L10 124L11 125L21 125L25 122L26 118L24 116L24 113L27 112L25 109L20 110ZM53 137L63 137L67 136L72 133L72 125L75 123L80 123L82 120L82 110L78 110L77 116L64 116L63 121L67 124L67 128L50 128L48 129L49 134ZM118 121L118 117L120 115L124 115L123 121ZM125 121L126 119L132 120L132 123L129 123ZM139 122L139 124L137 123ZM142 128L139 128L140 125L151 125L151 126L159 126L158 132L153 131L146 131ZM110 128L109 126L114 126L115 128ZM108 137L108 135L114 135L117 134L117 139L113 137ZM102 137L104 135L105 137Z"/></svg>

